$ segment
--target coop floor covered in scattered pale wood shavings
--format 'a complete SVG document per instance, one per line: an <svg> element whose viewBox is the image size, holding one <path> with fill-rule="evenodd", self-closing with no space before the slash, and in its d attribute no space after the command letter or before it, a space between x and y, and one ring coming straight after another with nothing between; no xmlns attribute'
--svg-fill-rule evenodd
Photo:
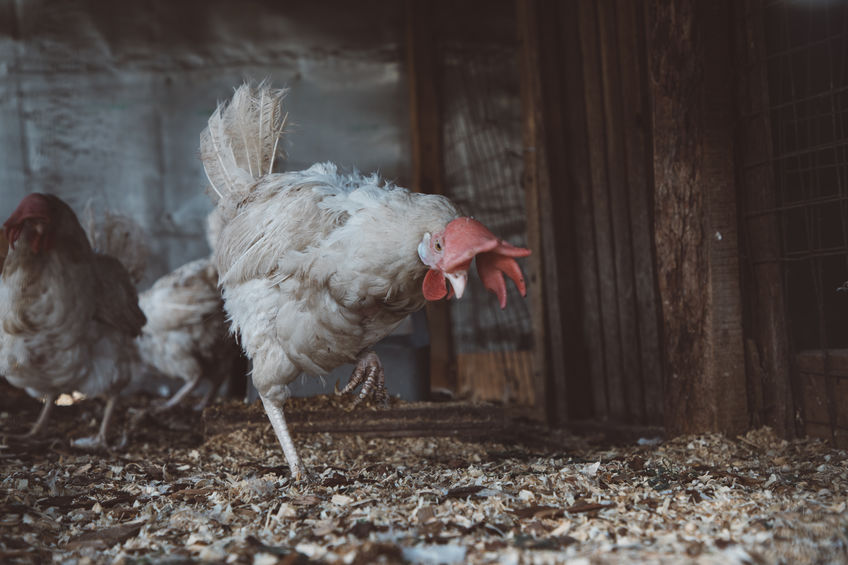
<svg viewBox="0 0 848 565"><path fill-rule="evenodd" d="M38 408L3 404L4 433ZM0 562L848 560L848 456L768 430L615 446L492 408L321 397L289 407L314 474L292 484L260 407L147 405L124 401L110 452L70 447L96 430L89 401L2 440Z"/></svg>

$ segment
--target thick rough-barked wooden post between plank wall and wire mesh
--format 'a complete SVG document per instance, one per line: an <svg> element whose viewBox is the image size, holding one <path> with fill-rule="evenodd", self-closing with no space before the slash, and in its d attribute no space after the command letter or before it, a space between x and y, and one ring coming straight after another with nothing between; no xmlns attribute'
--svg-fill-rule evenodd
<svg viewBox="0 0 848 565"><path fill-rule="evenodd" d="M669 434L748 424L729 0L651 0L654 241Z"/></svg>

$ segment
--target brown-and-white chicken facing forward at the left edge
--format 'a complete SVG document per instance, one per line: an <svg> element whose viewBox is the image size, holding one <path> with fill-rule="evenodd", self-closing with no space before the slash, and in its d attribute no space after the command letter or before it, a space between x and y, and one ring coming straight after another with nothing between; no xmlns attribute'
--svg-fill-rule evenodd
<svg viewBox="0 0 848 565"><path fill-rule="evenodd" d="M103 394L98 434L77 443L105 445L145 322L130 276L117 259L92 250L76 214L56 196L26 196L3 230L0 373L45 401L28 435L43 429L57 394Z"/></svg>

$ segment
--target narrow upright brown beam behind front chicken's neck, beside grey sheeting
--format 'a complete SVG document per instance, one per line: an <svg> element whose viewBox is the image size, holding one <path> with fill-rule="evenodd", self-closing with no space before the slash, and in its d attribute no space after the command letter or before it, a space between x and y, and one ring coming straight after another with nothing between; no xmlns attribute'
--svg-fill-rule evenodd
<svg viewBox="0 0 848 565"><path fill-rule="evenodd" d="M406 50L412 131L412 189L444 194L439 74L435 61L435 4L406 2ZM456 364L447 301L427 305L430 389L456 391Z"/></svg>

